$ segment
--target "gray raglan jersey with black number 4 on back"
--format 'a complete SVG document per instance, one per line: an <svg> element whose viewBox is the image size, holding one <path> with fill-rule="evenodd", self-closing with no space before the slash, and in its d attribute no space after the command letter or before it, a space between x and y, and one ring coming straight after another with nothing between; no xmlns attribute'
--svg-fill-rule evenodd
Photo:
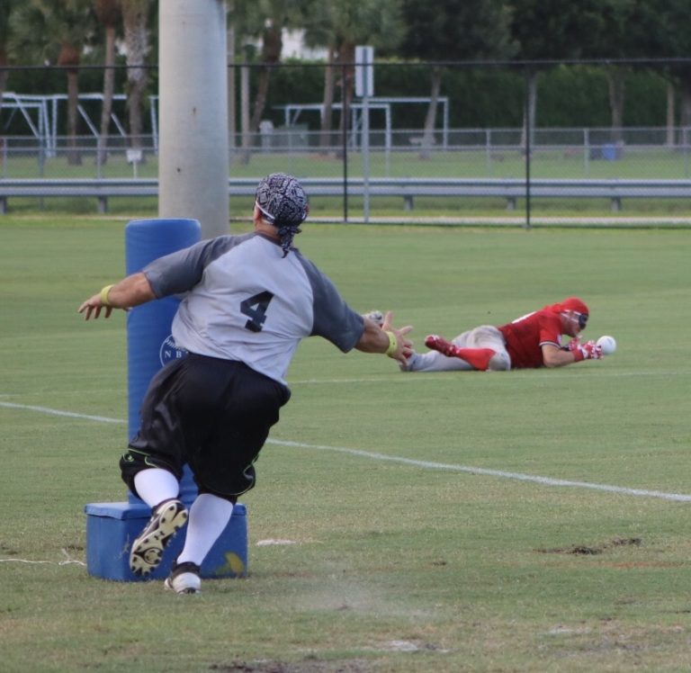
<svg viewBox="0 0 691 673"><path fill-rule="evenodd" d="M319 336L351 350L363 319L336 287L292 248L253 232L221 236L160 257L144 270L157 298L180 295L175 344L238 360L285 383L295 349Z"/></svg>

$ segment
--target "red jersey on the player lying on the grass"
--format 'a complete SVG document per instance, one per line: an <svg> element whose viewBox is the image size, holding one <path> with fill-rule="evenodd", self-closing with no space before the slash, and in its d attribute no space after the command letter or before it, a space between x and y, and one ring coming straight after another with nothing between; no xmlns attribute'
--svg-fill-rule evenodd
<svg viewBox="0 0 691 673"><path fill-rule="evenodd" d="M507 342L512 369L543 367L542 346L552 344L561 348L561 318L550 309L528 313L498 330Z"/></svg>

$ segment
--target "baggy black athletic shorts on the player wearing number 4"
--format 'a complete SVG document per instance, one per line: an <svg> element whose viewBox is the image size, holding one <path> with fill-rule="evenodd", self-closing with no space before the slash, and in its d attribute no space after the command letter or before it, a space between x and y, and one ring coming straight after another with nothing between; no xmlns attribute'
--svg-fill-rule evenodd
<svg viewBox="0 0 691 673"><path fill-rule="evenodd" d="M136 494L139 471L162 467L180 480L187 463L200 493L235 499L254 487L253 463L290 396L244 363L188 354L166 364L149 383L122 480Z"/></svg>

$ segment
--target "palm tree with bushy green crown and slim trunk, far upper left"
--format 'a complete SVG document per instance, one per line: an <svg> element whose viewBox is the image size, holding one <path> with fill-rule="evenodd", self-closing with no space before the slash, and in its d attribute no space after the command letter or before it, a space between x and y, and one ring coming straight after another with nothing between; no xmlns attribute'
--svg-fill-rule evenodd
<svg viewBox="0 0 691 673"><path fill-rule="evenodd" d="M91 0L27 0L11 18L13 49L64 68L67 75L67 161L80 164L76 147L79 65L94 33Z"/></svg>

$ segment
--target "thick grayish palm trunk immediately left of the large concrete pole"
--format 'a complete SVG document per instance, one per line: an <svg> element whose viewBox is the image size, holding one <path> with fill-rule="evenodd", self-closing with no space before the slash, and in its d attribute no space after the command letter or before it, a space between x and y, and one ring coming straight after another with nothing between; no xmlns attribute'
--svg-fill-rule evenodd
<svg viewBox="0 0 691 673"><path fill-rule="evenodd" d="M142 148L142 110L148 85L145 67L149 49L148 16L154 0L122 0L122 22L127 50L127 106L130 118L130 146ZM142 157L143 159L143 157Z"/></svg>

